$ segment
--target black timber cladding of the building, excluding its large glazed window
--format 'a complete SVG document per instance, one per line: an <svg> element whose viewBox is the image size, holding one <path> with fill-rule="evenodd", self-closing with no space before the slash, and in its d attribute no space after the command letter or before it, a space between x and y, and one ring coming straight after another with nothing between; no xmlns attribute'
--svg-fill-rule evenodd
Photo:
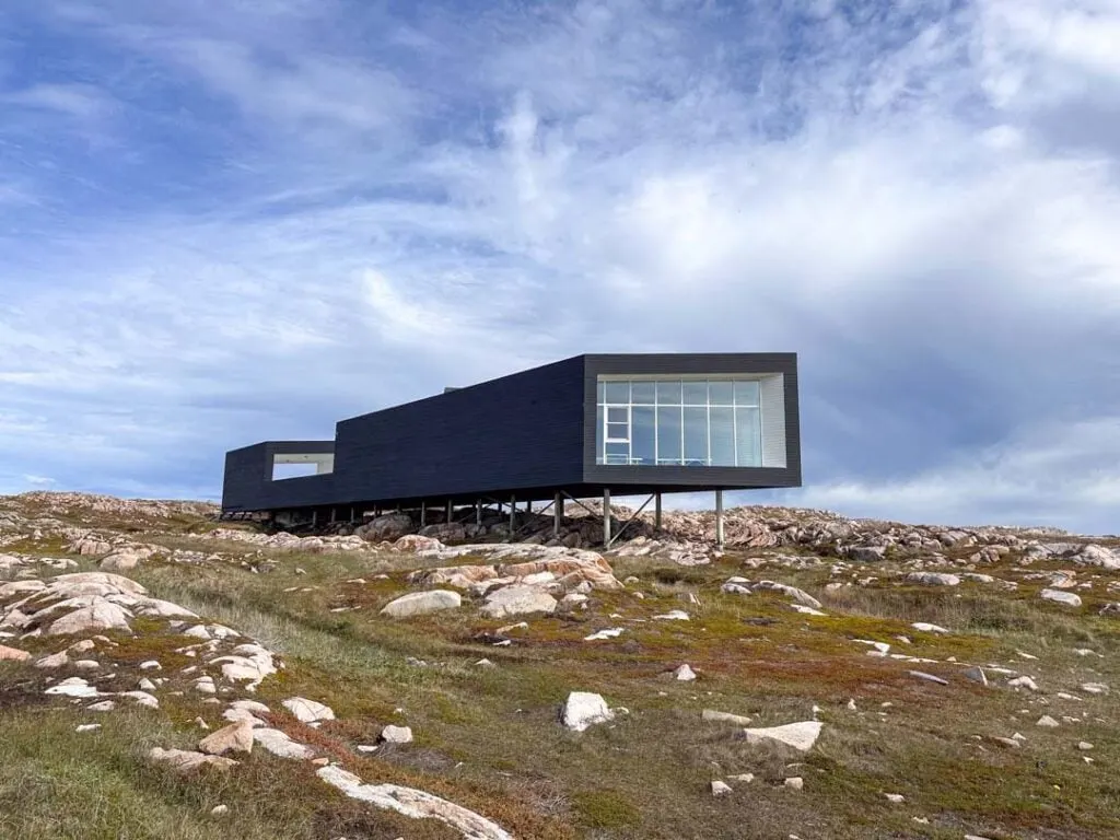
<svg viewBox="0 0 1120 840"><path fill-rule="evenodd" d="M767 376L781 382L769 465L596 463L597 383L610 376ZM775 447L780 447L777 451ZM333 452L325 475L272 480L276 457ZM793 353L580 355L339 421L333 441L265 441L226 455L224 513L507 503L801 484Z"/></svg>

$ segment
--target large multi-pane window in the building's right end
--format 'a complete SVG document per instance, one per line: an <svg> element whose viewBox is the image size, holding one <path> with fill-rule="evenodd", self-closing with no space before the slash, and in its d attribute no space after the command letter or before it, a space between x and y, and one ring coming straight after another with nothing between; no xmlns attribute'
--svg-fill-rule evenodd
<svg viewBox="0 0 1120 840"><path fill-rule="evenodd" d="M759 467L758 381L600 379L596 463Z"/></svg>

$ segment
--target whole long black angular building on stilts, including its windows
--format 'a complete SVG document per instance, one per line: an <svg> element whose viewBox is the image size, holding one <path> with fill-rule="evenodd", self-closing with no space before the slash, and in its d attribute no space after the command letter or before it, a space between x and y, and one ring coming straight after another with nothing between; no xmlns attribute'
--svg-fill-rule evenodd
<svg viewBox="0 0 1120 840"><path fill-rule="evenodd" d="M314 474L283 477L290 465ZM725 489L800 485L796 354L581 355L342 420L333 441L227 452L222 510L548 501L559 516L564 497L614 493L650 495L660 519L662 493L715 491L721 512Z"/></svg>

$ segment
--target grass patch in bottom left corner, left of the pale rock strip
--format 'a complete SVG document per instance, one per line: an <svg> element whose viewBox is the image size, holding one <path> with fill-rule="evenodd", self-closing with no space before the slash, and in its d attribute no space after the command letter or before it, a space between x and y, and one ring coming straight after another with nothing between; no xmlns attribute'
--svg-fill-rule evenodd
<svg viewBox="0 0 1120 840"><path fill-rule="evenodd" d="M86 716L94 719L93 715ZM373 811L311 777L311 767L254 755L233 772L184 778L153 765L153 746L190 739L158 715L96 717L102 729L74 731L68 709L4 715L0 739L0 837L6 840L244 840L274 838L456 837L438 823ZM277 795L282 791L283 795ZM226 805L224 816L212 816Z"/></svg>

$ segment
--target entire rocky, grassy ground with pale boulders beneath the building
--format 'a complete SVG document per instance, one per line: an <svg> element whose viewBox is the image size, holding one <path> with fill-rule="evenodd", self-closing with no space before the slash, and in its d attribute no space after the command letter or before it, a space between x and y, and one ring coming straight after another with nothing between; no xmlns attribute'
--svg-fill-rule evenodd
<svg viewBox="0 0 1120 840"><path fill-rule="evenodd" d="M0 498L0 837L1120 837L1114 538L216 513Z"/></svg>

